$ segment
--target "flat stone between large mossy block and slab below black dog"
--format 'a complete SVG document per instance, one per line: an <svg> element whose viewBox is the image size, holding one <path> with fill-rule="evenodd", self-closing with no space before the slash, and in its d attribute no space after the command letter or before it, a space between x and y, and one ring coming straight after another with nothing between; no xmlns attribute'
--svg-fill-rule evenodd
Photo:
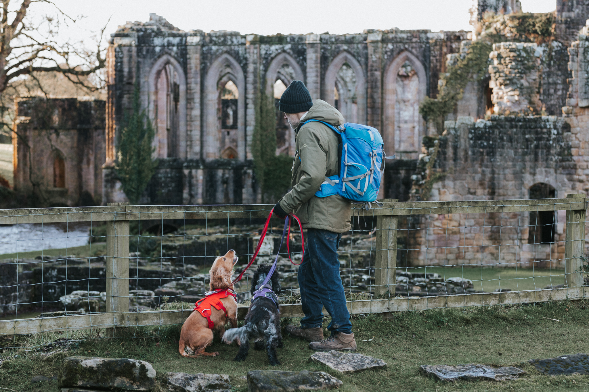
<svg viewBox="0 0 589 392"><path fill-rule="evenodd" d="M227 374L188 374L170 372L163 377L170 392L231 392Z"/></svg>

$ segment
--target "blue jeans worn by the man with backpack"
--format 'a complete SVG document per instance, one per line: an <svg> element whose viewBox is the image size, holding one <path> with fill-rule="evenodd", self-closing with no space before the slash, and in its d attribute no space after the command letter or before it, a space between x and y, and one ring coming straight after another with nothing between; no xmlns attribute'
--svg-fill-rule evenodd
<svg viewBox="0 0 589 392"><path fill-rule="evenodd" d="M303 328L320 327L323 320L322 309L325 306L332 317L331 323L327 326L332 336L337 332L352 332L336 252L341 239L342 234L307 229L307 247L298 275L305 313L300 325Z"/></svg>

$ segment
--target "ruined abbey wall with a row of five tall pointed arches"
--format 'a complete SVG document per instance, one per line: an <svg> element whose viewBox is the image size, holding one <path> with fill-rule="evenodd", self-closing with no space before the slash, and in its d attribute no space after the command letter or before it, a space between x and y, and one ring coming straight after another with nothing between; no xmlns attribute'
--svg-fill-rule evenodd
<svg viewBox="0 0 589 392"><path fill-rule="evenodd" d="M445 56L468 33L367 30L359 34L241 35L184 32L151 14L112 34L108 49L107 150L102 203L124 200L112 166L135 83L156 127L160 166L145 203L254 203L250 144L260 95L293 80L349 122L383 130L386 150L415 160L426 135L418 113L435 96ZM277 153L294 155L277 113ZM411 166L409 164L409 166Z"/></svg>

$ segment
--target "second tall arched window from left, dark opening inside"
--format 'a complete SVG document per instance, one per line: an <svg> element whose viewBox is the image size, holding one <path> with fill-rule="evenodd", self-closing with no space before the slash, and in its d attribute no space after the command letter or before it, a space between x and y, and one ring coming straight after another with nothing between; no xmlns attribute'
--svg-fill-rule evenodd
<svg viewBox="0 0 589 392"><path fill-rule="evenodd" d="M206 75L203 157L246 159L245 78L237 61L224 53Z"/></svg>

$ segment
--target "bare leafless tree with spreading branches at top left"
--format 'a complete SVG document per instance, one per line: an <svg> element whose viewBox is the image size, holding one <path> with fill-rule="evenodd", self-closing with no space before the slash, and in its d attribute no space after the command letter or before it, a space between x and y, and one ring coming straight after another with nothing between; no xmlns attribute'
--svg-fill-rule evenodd
<svg viewBox="0 0 589 392"><path fill-rule="evenodd" d="M50 5L55 12L39 15L34 11L35 4ZM31 146L12 126L15 120L13 99L18 95L49 98L51 94L44 85L51 86L51 82L44 82L47 78L43 75L51 73L54 76L59 73L62 79L89 92L102 88L101 78L91 78L105 66L105 49L101 45L106 24L100 31L95 50L85 48L81 42L58 38L61 27L75 24L79 18L72 18L50 0L0 0L0 133L5 136L12 133L27 147L29 180L41 203L47 199L41 183L32 173Z"/></svg>

